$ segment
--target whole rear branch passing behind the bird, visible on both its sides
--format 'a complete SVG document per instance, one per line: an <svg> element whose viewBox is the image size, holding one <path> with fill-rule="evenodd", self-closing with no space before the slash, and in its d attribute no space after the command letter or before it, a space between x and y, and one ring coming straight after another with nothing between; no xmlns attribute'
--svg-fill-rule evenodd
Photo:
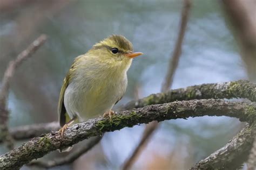
<svg viewBox="0 0 256 170"><path fill-rule="evenodd" d="M247 91L248 90L248 91ZM166 93L152 94L137 101L127 103L122 110L142 108L151 104L163 104L173 101L207 99L207 98L248 98L256 101L256 84L249 81L239 80L224 83L209 83L186 88L179 88L167 91ZM11 128L10 134L16 140L38 137L43 133L57 131L58 122L42 123L34 125L18 126ZM0 143L2 141L0 140Z"/></svg>

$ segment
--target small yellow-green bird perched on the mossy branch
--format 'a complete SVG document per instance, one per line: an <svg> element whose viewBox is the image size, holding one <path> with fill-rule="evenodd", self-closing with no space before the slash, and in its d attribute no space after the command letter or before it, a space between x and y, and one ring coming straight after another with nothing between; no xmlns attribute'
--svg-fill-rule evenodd
<svg viewBox="0 0 256 170"><path fill-rule="evenodd" d="M59 95L59 123L64 130L74 121L111 116L111 110L124 95L127 70L132 59L142 55L133 52L132 44L124 36L112 35L73 61L63 81Z"/></svg>

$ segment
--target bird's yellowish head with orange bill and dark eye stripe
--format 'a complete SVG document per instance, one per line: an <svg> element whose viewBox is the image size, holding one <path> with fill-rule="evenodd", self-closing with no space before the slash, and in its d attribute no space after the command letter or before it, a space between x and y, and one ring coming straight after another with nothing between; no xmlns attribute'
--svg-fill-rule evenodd
<svg viewBox="0 0 256 170"><path fill-rule="evenodd" d="M110 66L130 67L132 59L143 53L133 52L131 42L124 36L112 35L95 44L89 54Z"/></svg>

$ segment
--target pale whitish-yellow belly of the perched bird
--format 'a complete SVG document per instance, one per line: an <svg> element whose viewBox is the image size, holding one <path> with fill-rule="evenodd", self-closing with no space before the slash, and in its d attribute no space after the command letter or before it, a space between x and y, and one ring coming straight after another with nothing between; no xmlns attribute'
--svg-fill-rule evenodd
<svg viewBox="0 0 256 170"><path fill-rule="evenodd" d="M73 81L64 95L64 105L70 118L78 117L79 122L103 115L125 93L127 76L119 76L117 81L109 77L104 79L85 79L83 83Z"/></svg>

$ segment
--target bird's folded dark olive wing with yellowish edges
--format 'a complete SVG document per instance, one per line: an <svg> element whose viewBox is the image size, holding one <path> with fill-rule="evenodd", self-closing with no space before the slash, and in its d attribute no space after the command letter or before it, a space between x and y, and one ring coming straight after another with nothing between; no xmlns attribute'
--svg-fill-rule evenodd
<svg viewBox="0 0 256 170"><path fill-rule="evenodd" d="M64 94L65 94L66 88L69 86L71 77L75 74L77 62L79 62L79 59L81 58L81 56L82 55L78 56L73 61L68 74L66 74L66 77L63 80L62 88L60 89L59 102L58 102L58 115L59 115L60 126L63 126L64 124L66 124L66 122L69 121L69 116L68 114L66 114L66 108L64 105Z"/></svg>

